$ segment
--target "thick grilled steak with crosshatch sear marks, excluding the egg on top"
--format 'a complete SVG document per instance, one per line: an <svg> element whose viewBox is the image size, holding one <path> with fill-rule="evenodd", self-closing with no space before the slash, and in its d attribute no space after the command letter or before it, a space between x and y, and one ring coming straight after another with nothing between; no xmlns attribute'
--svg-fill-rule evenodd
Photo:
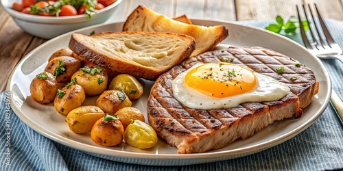
<svg viewBox="0 0 343 171"><path fill-rule="evenodd" d="M190 109L174 98L171 81L177 75L199 62L222 62L223 57L234 57L233 64L287 83L291 92L279 101L243 103L228 109ZM276 73L280 66L285 67L283 75ZM290 80L294 76L297 79ZM177 147L178 153L202 153L222 148L238 138L245 139L275 120L300 117L300 107L306 107L317 92L318 83L312 71L294 66L292 58L261 47L229 47L226 51L209 51L189 58L158 77L147 102L147 116L156 133ZM303 98L310 99L301 104L303 94Z"/></svg>

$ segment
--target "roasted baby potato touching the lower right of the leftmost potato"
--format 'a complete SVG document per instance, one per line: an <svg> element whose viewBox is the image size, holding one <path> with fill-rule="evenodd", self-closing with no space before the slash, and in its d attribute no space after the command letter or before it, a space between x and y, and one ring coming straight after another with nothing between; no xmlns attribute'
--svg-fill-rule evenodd
<svg viewBox="0 0 343 171"><path fill-rule="evenodd" d="M85 99L84 89L80 85L72 83L62 90L58 90L54 106L58 113L67 115L71 110L82 106Z"/></svg>

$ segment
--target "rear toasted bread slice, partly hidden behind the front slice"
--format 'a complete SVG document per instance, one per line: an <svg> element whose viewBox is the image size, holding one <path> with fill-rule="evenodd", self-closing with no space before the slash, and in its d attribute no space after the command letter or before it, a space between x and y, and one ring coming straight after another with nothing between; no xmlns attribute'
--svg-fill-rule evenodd
<svg viewBox="0 0 343 171"><path fill-rule="evenodd" d="M200 26L175 21L139 5L123 25L123 31L152 31L187 34L196 39L196 50L191 56L212 50L228 36L228 29L223 25Z"/></svg>

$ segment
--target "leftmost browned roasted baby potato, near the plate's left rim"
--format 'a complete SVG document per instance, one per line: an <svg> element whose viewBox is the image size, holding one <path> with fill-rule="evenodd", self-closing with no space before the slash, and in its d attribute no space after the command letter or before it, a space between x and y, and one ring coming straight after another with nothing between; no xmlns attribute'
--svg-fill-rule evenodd
<svg viewBox="0 0 343 171"><path fill-rule="evenodd" d="M38 103L50 103L54 101L57 91L58 82L54 75L47 72L36 75L29 86L29 92L32 98Z"/></svg>

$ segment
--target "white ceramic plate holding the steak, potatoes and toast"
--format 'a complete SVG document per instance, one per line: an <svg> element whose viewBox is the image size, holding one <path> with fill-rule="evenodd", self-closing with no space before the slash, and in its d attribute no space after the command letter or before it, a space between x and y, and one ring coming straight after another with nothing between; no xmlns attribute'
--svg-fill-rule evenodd
<svg viewBox="0 0 343 171"><path fill-rule="evenodd" d="M263 29L237 23L201 19L193 20L193 23L197 25L225 25L230 31L230 36L222 42L223 44L267 47L294 57L312 68L316 79L320 83L320 89L314 101L305 109L303 116L296 120L289 119L274 122L246 140L237 140L224 148L207 153L179 155L176 153L176 148L170 147L162 140L159 140L155 148L149 150L139 150L124 143L110 148L98 146L92 142L89 134L78 135L70 131L64 121L65 116L58 114L52 103L40 105L32 100L29 93L29 84L38 73L44 70L49 56L58 49L68 47L71 33L64 34L40 45L40 47L27 54L16 66L7 86L7 91L11 92L12 109L29 127L60 144L104 159L150 166L181 166L207 163L257 153L298 135L321 116L329 103L331 94L329 75L320 60L311 55L300 44ZM96 33L101 31L121 31L122 25L123 23L110 23L86 27L73 32L90 34L91 31ZM134 107L141 109L144 114L146 113L146 101L152 83L152 81L145 82L145 93L137 103L134 103ZM95 100L96 97L88 98L85 104L94 104Z"/></svg>

